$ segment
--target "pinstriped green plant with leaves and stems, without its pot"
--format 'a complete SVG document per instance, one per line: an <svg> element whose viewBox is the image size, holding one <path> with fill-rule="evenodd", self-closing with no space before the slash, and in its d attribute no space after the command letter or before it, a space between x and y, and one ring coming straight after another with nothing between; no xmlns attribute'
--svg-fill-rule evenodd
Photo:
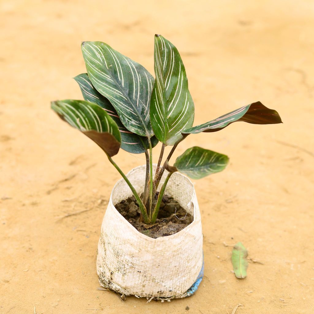
<svg viewBox="0 0 314 314"><path fill-rule="evenodd" d="M51 107L103 149L132 190L145 224L155 222L167 182L174 172L199 179L222 171L227 165L226 155L192 147L171 166L173 152L189 134L216 132L237 121L281 123L277 111L258 101L193 127L194 103L182 59L176 47L161 35L155 35L154 39L155 79L142 65L103 42L85 41L81 47L87 73L74 79L84 100L57 100ZM159 141L162 147L153 174L152 149ZM161 166L165 146L172 149ZM146 156L143 198L112 159L120 148ZM153 198L165 169L169 173L153 208Z"/></svg>

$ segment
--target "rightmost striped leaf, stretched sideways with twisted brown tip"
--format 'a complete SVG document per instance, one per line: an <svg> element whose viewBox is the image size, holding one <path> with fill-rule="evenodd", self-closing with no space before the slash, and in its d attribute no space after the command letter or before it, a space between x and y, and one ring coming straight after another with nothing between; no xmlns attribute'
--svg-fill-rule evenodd
<svg viewBox="0 0 314 314"><path fill-rule="evenodd" d="M196 127L184 129L182 134L216 132L236 121L243 121L252 124L282 123L279 113L276 110L268 109L260 101L257 101Z"/></svg>

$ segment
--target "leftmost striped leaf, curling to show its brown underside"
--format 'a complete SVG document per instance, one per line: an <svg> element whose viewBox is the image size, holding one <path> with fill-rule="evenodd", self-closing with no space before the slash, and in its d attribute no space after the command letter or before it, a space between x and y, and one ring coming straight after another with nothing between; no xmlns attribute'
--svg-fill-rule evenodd
<svg viewBox="0 0 314 314"><path fill-rule="evenodd" d="M100 106L86 100L57 100L51 108L58 116L91 138L109 156L118 153L121 136L116 122Z"/></svg>

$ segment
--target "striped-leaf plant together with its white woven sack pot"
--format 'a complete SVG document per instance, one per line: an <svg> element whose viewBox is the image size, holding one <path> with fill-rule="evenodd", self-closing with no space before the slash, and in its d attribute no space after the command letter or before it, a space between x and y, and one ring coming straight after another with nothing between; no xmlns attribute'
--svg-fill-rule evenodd
<svg viewBox="0 0 314 314"><path fill-rule="evenodd" d="M222 171L228 157L201 147L187 149L172 165L171 156L190 134L216 132L237 121L281 123L280 116L258 101L193 127L186 71L178 50L163 36L154 39L155 79L103 42L85 41L81 48L87 73L74 79L84 100L53 101L51 108L97 143L122 176L101 227L100 284L149 299L191 295L203 277L203 236L195 190L184 175L199 179ZM166 146L172 149L162 163ZM146 165L125 175L112 159L120 148L144 153Z"/></svg>

